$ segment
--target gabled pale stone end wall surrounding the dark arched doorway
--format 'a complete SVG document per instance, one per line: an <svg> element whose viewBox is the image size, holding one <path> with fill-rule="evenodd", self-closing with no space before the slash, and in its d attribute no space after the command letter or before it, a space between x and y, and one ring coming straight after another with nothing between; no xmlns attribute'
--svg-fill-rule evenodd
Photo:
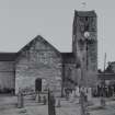
<svg viewBox="0 0 115 115"><path fill-rule="evenodd" d="M43 38L21 50L15 61L15 93L19 88L35 90L37 78L44 79L46 88L61 92L61 56Z"/></svg>

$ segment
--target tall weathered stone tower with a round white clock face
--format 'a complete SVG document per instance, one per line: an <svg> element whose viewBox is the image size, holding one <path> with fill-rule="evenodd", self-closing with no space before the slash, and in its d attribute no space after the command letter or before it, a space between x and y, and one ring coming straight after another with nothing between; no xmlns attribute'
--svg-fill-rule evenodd
<svg viewBox="0 0 115 115"><path fill-rule="evenodd" d="M94 11L74 11L72 51L83 67L84 84L93 85L97 71L97 27Z"/></svg>

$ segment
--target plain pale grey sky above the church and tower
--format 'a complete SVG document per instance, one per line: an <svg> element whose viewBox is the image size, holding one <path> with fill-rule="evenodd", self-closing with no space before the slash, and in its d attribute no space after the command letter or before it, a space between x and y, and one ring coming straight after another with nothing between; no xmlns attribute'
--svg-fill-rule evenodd
<svg viewBox="0 0 115 115"><path fill-rule="evenodd" d="M82 5L87 2L87 5ZM0 51L15 53L42 35L59 51L72 49L74 10L97 14L97 64L115 61L115 0L0 0Z"/></svg>

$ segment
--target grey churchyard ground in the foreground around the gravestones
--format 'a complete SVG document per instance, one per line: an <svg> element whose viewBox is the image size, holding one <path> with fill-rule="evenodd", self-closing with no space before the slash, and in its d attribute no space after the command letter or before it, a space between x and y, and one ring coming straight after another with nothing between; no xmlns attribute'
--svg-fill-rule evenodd
<svg viewBox="0 0 115 115"><path fill-rule="evenodd" d="M106 105L100 104L100 97L91 97L87 111L89 115L115 115L115 99L105 97ZM18 106L18 96L0 95L0 115L48 115L48 103L44 103L43 96L41 101L35 95L26 95L23 97L23 106ZM69 95L66 97L57 97L55 104L56 115L81 115L79 97Z"/></svg>

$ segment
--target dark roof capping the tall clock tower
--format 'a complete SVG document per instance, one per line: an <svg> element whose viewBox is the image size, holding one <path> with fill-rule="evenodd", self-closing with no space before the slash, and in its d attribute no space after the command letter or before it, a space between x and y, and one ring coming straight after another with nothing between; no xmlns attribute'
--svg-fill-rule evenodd
<svg viewBox="0 0 115 115"><path fill-rule="evenodd" d="M92 11L77 11L77 10L74 10L74 15L78 15L78 16L96 16L96 13L94 10L92 10Z"/></svg>

